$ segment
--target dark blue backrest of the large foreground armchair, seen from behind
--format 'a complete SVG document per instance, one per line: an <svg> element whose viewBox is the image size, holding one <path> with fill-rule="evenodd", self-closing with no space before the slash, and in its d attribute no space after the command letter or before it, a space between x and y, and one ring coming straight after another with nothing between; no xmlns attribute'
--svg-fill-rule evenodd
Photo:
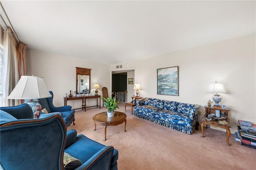
<svg viewBox="0 0 256 170"><path fill-rule="evenodd" d="M3 114L8 114L2 111ZM59 114L1 123L0 163L5 170L63 170L66 124Z"/></svg>

